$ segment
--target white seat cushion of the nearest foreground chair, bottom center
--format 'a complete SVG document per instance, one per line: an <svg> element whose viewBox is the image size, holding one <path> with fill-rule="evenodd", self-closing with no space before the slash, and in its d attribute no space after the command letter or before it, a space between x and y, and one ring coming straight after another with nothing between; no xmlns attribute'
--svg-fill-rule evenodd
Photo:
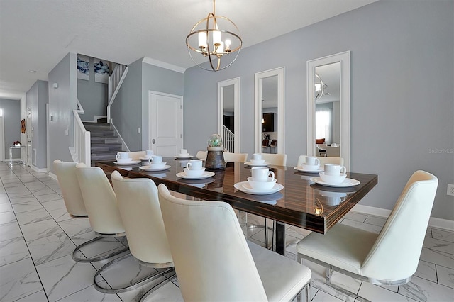
<svg viewBox="0 0 454 302"><path fill-rule="evenodd" d="M248 241L268 301L291 301L311 279L311 270Z"/></svg>

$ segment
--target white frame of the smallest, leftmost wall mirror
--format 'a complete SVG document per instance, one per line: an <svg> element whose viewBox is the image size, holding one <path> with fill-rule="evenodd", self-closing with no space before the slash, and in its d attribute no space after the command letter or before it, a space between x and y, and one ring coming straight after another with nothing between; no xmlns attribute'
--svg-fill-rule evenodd
<svg viewBox="0 0 454 302"><path fill-rule="evenodd" d="M224 87L233 85L233 111L234 121L233 129L235 133L235 142L233 143L234 152L240 152L241 135L240 135L240 78L227 79L218 82L218 134L223 133L223 112L224 112ZM238 138L238 139L237 139ZM222 138L224 139L224 138Z"/></svg>

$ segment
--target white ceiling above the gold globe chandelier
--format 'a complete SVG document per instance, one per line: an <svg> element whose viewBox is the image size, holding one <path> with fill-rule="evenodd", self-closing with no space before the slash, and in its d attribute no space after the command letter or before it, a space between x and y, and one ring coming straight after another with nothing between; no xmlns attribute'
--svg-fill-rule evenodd
<svg viewBox="0 0 454 302"><path fill-rule="evenodd" d="M377 0L217 0L243 47ZM194 66L185 39L211 0L0 0L0 98L20 99L68 52L128 65L140 57ZM29 72L35 70L35 73Z"/></svg>

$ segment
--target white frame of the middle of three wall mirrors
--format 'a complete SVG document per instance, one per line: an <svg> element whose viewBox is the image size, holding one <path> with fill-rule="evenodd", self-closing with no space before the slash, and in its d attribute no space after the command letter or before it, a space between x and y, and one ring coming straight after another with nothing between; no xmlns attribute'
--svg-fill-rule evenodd
<svg viewBox="0 0 454 302"><path fill-rule="evenodd" d="M254 145L262 153L262 79L277 75L277 153L285 153L285 67L255 73L254 81Z"/></svg>

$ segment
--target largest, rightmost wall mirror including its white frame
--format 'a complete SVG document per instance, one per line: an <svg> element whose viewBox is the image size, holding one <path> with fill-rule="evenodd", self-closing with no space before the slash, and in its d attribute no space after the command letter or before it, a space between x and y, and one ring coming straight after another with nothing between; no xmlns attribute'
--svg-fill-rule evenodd
<svg viewBox="0 0 454 302"><path fill-rule="evenodd" d="M350 52L307 61L306 72L307 155L343 157L350 171Z"/></svg>

